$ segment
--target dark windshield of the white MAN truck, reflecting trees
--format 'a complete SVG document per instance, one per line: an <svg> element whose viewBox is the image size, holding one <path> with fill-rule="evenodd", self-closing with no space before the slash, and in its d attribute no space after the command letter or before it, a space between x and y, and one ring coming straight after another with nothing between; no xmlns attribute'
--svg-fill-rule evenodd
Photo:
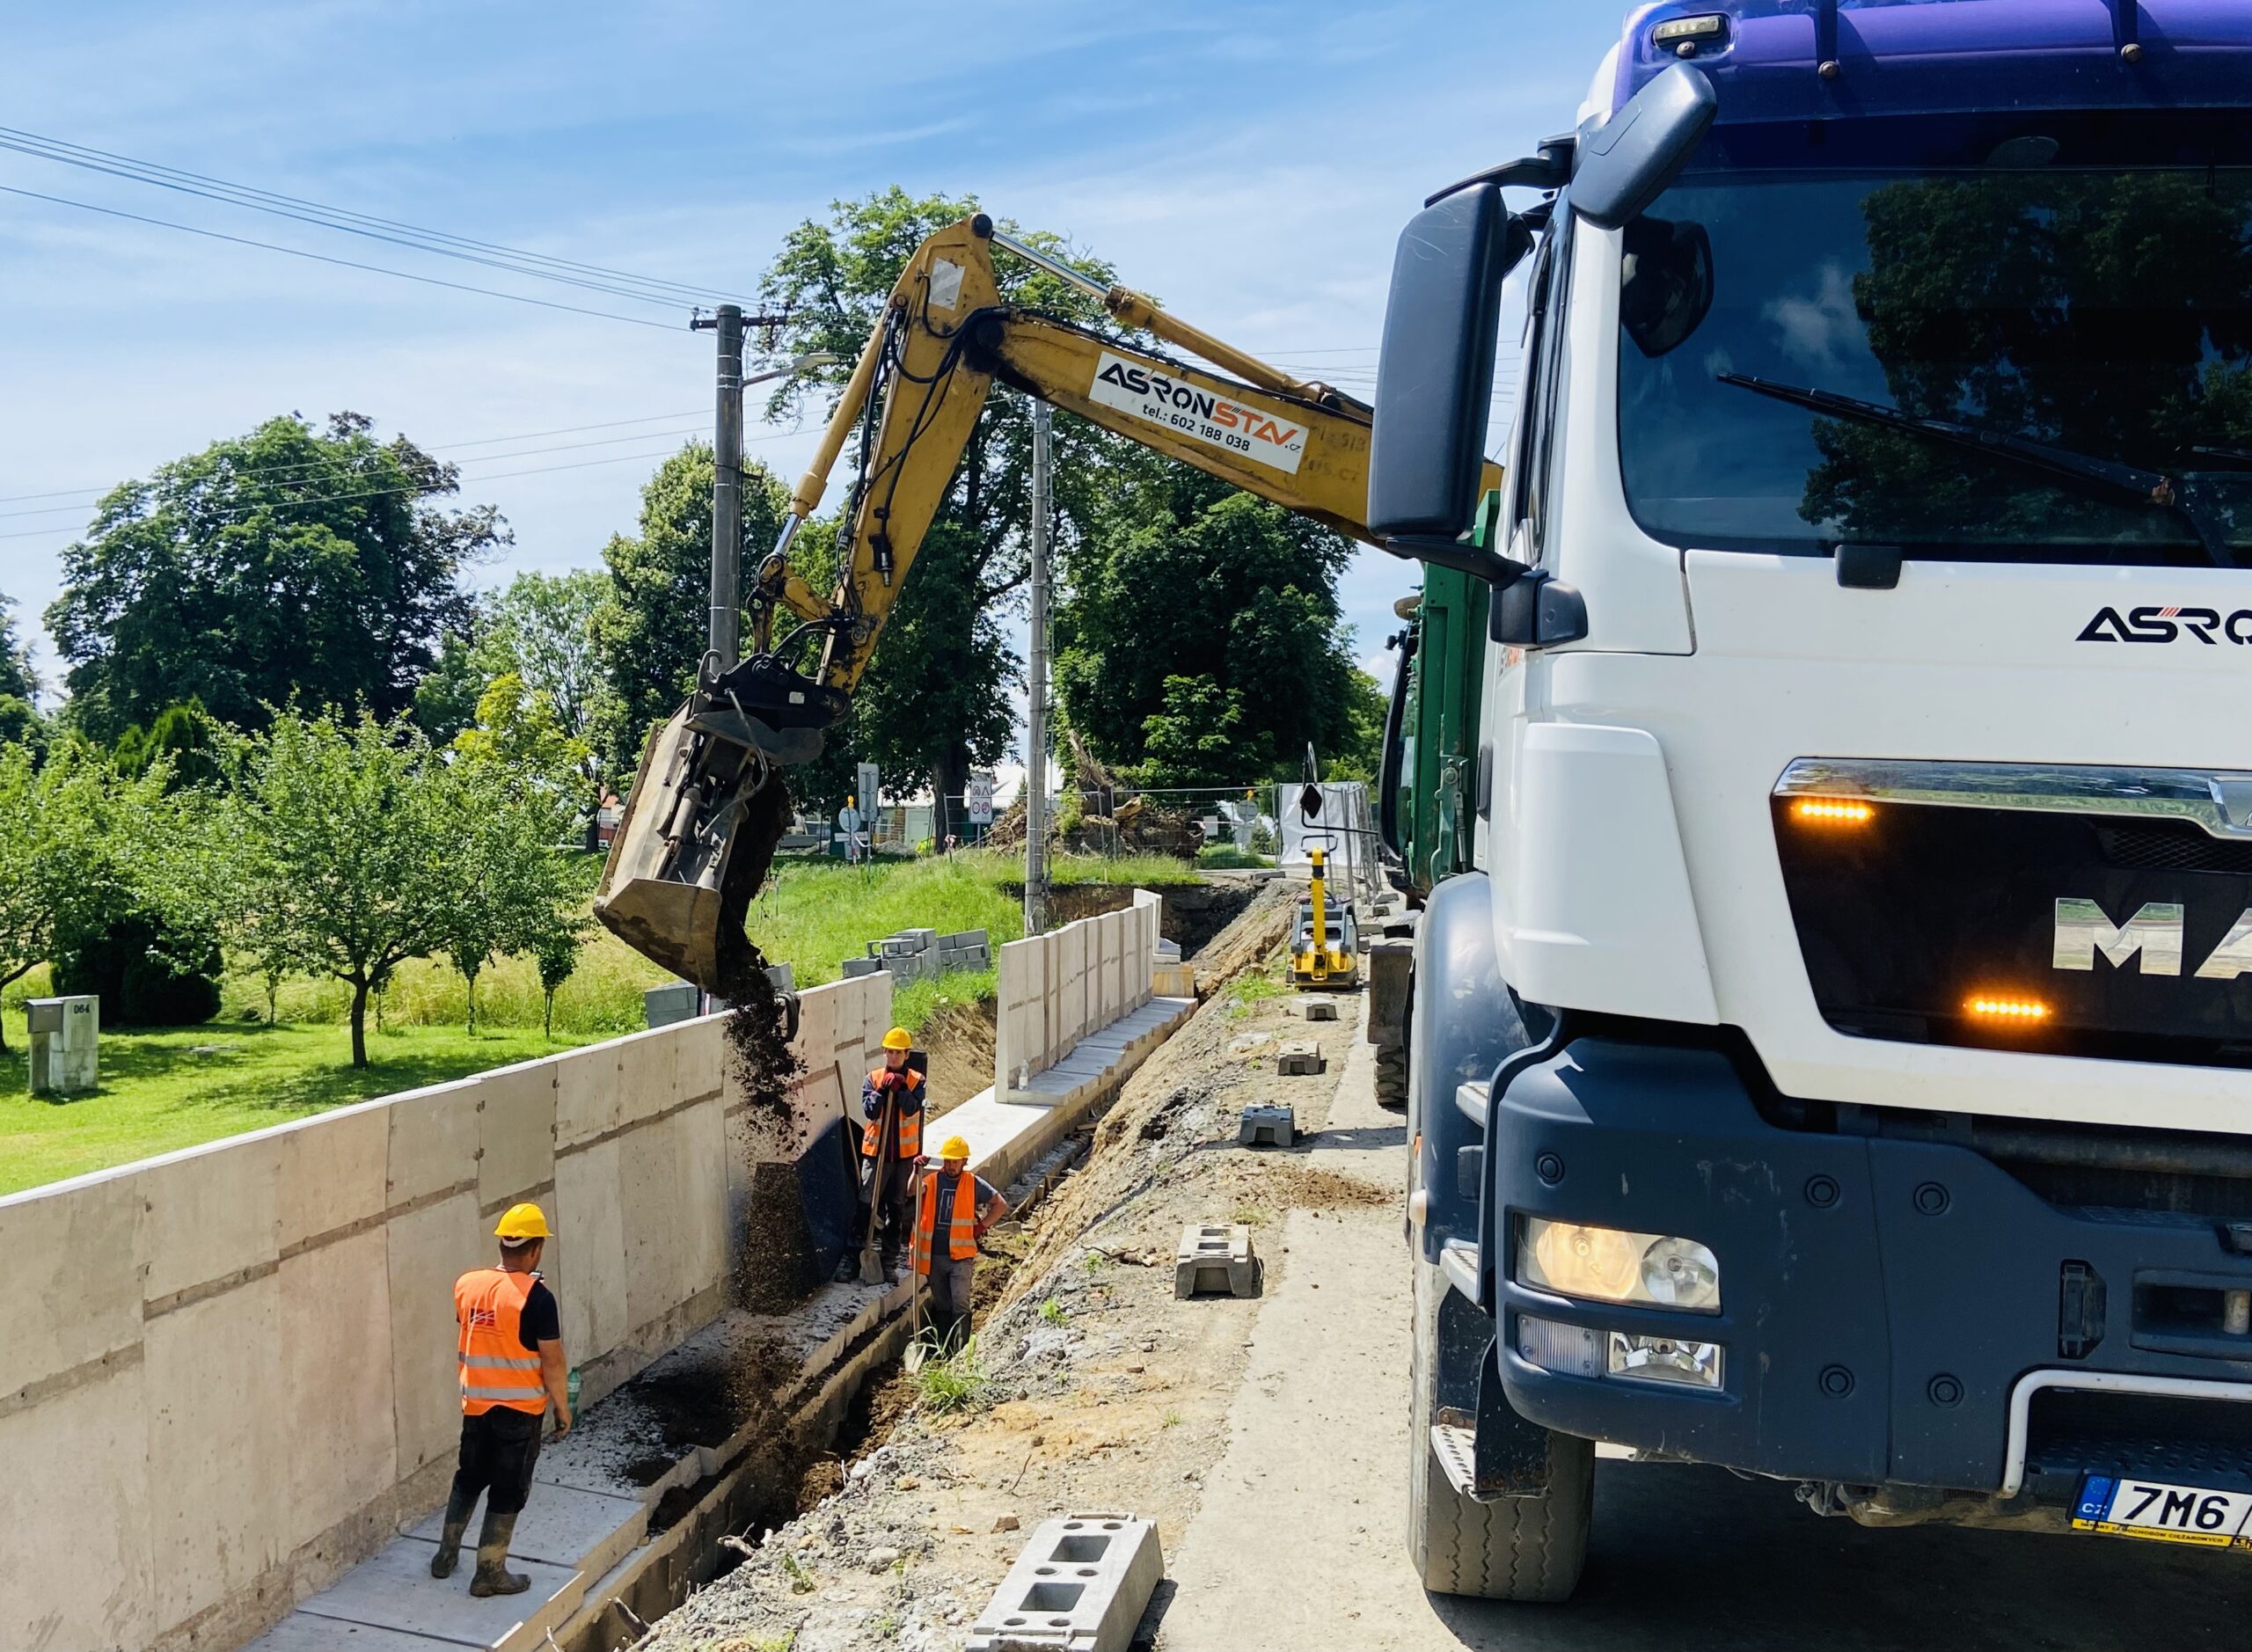
<svg viewBox="0 0 2252 1652"><path fill-rule="evenodd" d="M1628 225L1621 281L1621 473L1662 540L2252 560L2252 169L1694 178Z"/></svg>

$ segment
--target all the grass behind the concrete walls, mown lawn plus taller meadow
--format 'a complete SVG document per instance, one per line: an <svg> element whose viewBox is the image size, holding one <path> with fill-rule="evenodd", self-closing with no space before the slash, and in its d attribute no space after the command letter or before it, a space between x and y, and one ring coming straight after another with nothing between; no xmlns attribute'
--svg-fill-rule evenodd
<svg viewBox="0 0 2252 1652"><path fill-rule="evenodd" d="M1004 885L1022 876L1020 855L982 851L872 867L784 860L752 903L748 930L770 961L795 966L799 986L820 986L840 975L842 959L860 957L869 941L894 930L986 930L995 948L1016 941L1025 914ZM1052 876L1058 885L1196 880L1164 855L1058 855ZM50 1103L25 1094L23 999L50 990L47 970L38 968L0 995L9 1038L0 1058L0 1193L633 1033L642 1029L642 988L664 979L655 963L597 932L556 993L554 1038L547 1038L529 959L500 959L477 977L471 1035L462 1029L468 1011L462 977L444 961L412 959L385 993L383 1031L369 1022L374 1065L356 1071L342 981L284 981L282 1024L266 1026L263 981L234 970L221 984L218 1020L162 1031L104 1029L101 1089ZM921 1029L941 1004L975 1004L993 986L991 970L914 981L899 988L892 1015Z"/></svg>

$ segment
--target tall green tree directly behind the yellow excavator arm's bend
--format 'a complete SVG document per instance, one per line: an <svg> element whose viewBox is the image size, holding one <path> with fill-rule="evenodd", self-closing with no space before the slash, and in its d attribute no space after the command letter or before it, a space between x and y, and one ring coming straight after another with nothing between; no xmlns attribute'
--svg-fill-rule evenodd
<svg viewBox="0 0 2252 1652"><path fill-rule="evenodd" d="M784 349L831 351L838 365L820 378L786 380L770 410L826 414L908 259L935 230L975 209L973 196L917 198L892 187L863 200L835 200L826 221L797 225L766 275L761 302L790 313L790 324L781 329ZM1067 257L1097 281L1112 279L1110 266L1072 254L1056 236L1011 223L1002 227ZM1085 293L1009 254L995 259L995 279L1004 304L1090 326L1106 322L1101 304ZM1070 551L1092 518L1103 473L1121 446L1083 421L1056 421L1061 551ZM959 797L975 765L993 763L1009 749L1016 659L1000 614L1029 574L1029 403L995 392L860 680L854 747L885 770L887 783L896 776L901 790L928 783L941 797ZM815 590L835 581L833 567L802 572Z"/></svg>

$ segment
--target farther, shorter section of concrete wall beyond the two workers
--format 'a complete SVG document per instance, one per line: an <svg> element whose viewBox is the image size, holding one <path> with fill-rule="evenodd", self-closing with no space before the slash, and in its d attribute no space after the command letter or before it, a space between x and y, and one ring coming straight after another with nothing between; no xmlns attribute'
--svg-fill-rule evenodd
<svg viewBox="0 0 2252 1652"><path fill-rule="evenodd" d="M993 1089L1007 1096L1072 1044L1151 995L1162 900L1135 889L1133 905L1067 923L1000 950Z"/></svg>

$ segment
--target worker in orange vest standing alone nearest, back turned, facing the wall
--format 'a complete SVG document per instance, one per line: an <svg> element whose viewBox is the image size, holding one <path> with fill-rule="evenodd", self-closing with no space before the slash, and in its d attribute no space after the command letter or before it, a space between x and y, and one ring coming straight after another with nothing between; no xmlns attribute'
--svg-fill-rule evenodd
<svg viewBox="0 0 2252 1652"><path fill-rule="evenodd" d="M473 1596L513 1596L531 1578L509 1571L509 1537L531 1494L540 1456L540 1418L556 1409L556 1438L570 1434L570 1364L554 1292L540 1283L547 1215L511 1204L493 1229L500 1267L477 1267L453 1281L455 1355L462 1371L462 1458L446 1499L446 1526L430 1557L432 1578L450 1578L462 1560L462 1533L484 1494Z"/></svg>

